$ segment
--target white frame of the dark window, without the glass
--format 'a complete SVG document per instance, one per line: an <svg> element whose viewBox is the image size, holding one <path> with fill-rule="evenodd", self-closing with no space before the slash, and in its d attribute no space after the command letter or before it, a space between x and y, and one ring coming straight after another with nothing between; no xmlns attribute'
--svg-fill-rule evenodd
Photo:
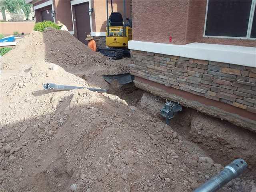
<svg viewBox="0 0 256 192"><path fill-rule="evenodd" d="M251 32L252 32L252 22L253 22L253 17L254 17L254 11L256 7L256 0L252 0L252 5L251 5L251 10L250 10L250 17L249 17L249 22L248 22L248 28L247 28L247 34L246 37L230 37L230 36L211 36L211 35L206 35L205 30L206 30L206 21L207 21L207 14L208 14L208 4L209 0L207 0L206 3L206 12L205 12L205 19L204 19L204 34L203 37L207 38L227 38L227 39L247 39L247 40L256 40L256 38L252 38Z"/></svg>

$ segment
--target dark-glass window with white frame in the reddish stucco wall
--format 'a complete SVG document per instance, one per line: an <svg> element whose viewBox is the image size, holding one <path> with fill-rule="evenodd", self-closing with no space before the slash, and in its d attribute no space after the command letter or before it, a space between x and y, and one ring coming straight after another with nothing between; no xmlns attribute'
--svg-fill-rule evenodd
<svg viewBox="0 0 256 192"><path fill-rule="evenodd" d="M204 36L256 39L256 0L208 0Z"/></svg>

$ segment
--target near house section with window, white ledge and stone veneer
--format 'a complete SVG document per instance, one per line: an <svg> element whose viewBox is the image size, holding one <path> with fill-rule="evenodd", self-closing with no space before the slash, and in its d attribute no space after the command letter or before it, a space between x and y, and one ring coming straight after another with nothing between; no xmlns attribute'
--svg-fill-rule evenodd
<svg viewBox="0 0 256 192"><path fill-rule="evenodd" d="M135 85L256 130L255 6L134 0L128 48Z"/></svg>

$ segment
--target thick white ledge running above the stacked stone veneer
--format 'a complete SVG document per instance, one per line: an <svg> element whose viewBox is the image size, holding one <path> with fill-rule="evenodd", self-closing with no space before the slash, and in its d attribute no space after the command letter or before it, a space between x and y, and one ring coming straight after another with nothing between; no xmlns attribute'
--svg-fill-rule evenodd
<svg viewBox="0 0 256 192"><path fill-rule="evenodd" d="M173 45L142 41L128 41L128 48L132 50L256 67L255 47L207 43Z"/></svg>

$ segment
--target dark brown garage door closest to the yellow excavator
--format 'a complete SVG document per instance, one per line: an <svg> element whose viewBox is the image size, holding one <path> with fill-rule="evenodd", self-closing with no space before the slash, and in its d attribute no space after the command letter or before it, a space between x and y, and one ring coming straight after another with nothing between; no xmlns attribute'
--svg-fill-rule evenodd
<svg viewBox="0 0 256 192"><path fill-rule="evenodd" d="M88 45L88 41L85 40L86 35L91 33L88 10L89 2L75 5L77 38L86 45Z"/></svg>

